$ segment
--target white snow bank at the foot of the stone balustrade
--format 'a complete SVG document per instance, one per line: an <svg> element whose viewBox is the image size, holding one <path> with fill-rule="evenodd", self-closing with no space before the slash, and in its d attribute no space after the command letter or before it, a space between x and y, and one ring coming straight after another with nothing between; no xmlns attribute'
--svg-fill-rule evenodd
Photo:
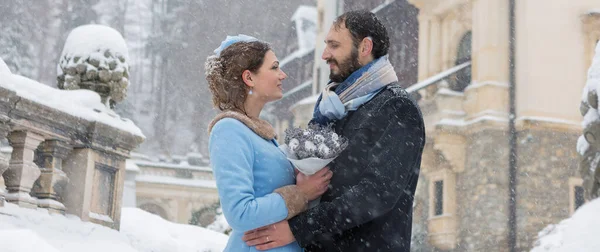
<svg viewBox="0 0 600 252"><path fill-rule="evenodd" d="M176 224L138 208L123 208L121 231L6 203L0 207L2 252L216 252L228 236Z"/></svg>

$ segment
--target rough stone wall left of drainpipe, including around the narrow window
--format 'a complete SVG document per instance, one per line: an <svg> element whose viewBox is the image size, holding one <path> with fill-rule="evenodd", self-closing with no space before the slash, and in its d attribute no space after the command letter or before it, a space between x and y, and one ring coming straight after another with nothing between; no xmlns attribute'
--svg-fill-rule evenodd
<svg viewBox="0 0 600 252"><path fill-rule="evenodd" d="M433 139L430 140L430 143ZM432 143L431 143L432 144ZM422 165L413 209L411 251L508 251L508 136L503 129L485 129L467 137L465 169L456 174L457 236L454 249L440 250L430 242L429 169L449 169L433 148L423 158L436 158ZM432 154L433 153L433 154ZM423 167L431 166L431 167ZM444 200L449 200L445 198Z"/></svg>

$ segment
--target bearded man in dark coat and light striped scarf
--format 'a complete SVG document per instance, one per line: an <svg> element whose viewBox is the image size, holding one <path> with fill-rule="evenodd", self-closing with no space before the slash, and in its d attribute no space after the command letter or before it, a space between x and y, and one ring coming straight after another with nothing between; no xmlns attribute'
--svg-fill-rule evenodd
<svg viewBox="0 0 600 252"><path fill-rule="evenodd" d="M421 112L397 83L386 29L373 13L338 17L325 43L331 83L311 123L333 124L349 145L329 164L334 175L319 205L243 239L259 250L295 240L306 251L409 251Z"/></svg>

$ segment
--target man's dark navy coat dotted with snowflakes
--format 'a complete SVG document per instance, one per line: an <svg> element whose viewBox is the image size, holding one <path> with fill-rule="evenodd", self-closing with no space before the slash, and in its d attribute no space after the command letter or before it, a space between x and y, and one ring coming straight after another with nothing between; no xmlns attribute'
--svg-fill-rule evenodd
<svg viewBox="0 0 600 252"><path fill-rule="evenodd" d="M410 251L425 145L417 103L397 83L335 122L348 147L318 206L289 220L306 251Z"/></svg>

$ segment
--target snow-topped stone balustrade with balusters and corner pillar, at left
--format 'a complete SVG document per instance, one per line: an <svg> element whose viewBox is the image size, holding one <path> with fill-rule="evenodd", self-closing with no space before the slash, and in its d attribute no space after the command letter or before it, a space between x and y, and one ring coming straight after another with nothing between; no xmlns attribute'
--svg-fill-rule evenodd
<svg viewBox="0 0 600 252"><path fill-rule="evenodd" d="M119 229L125 160L144 136L110 109L49 102L77 97L72 92L102 105L92 91L50 88L0 60L0 141L12 147L10 158L0 155L0 207L44 208Z"/></svg>

